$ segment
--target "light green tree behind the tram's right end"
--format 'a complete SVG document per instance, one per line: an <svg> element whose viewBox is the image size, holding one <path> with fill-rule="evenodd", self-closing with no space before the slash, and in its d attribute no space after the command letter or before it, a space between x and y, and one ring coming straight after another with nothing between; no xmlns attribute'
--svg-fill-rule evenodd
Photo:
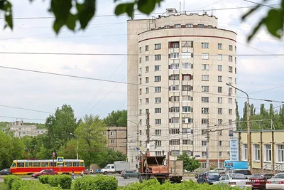
<svg viewBox="0 0 284 190"><path fill-rule="evenodd" d="M75 130L75 135L79 139L79 157L84 159L87 167L102 159L102 151L107 145L104 135L106 130L107 125L104 121L93 115L86 115Z"/></svg>

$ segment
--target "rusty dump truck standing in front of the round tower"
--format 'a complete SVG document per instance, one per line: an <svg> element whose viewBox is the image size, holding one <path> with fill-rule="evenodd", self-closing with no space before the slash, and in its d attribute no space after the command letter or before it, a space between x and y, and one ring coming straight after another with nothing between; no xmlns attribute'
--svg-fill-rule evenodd
<svg viewBox="0 0 284 190"><path fill-rule="evenodd" d="M160 184L165 180L170 179L173 182L181 182L183 176L183 162L170 161L170 154L168 158L164 156L148 156L142 154L138 167L139 181L148 179L157 179Z"/></svg>

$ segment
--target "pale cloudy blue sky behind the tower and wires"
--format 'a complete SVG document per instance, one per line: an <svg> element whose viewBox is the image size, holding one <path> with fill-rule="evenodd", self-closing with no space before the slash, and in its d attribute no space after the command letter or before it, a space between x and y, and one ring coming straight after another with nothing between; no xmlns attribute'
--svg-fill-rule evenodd
<svg viewBox="0 0 284 190"><path fill-rule="evenodd" d="M51 16L48 9L49 1L12 0L14 17ZM183 1L182 1L183 2ZM270 4L278 4L270 1ZM185 1L185 10L222 9L239 6L253 6L242 1ZM179 9L179 1L165 0L155 12L164 12L167 8ZM183 8L182 8L183 9ZM98 1L97 15L114 14L113 1ZM258 11L248 21L241 22L241 15L248 9L232 9L213 11L219 21L219 28L226 28L238 33L237 53L284 53L283 41L275 40L262 28L251 43L246 43L246 36L252 30L251 26L266 13L267 8ZM212 11L207 11L211 14ZM202 14L202 11L200 11ZM1 16L2 17L2 16ZM136 16L136 19L146 16ZM1 31L0 51L26 52L60 52L60 53L126 53L126 16L101 16L92 19L86 31L72 33L65 28L59 36L52 31L53 19L15 19L13 31ZM4 25L0 21L0 26ZM102 78L126 81L126 56L39 56L39 55L0 55L0 65L41 70L68 75L81 75L92 78ZM283 59L284 57L239 57L237 85L251 94L250 97L269 100L283 100ZM0 68L0 105L24 107L33 110L54 112L62 104L70 104L75 115L92 113L105 117L112 110L126 109L126 85L102 83L94 80L64 78L53 75L28 73L18 70ZM114 90L112 90L114 89ZM241 93L239 93L241 95ZM94 101L92 101L94 99ZM98 104L99 102L99 104ZM260 107L261 101L251 100L255 107ZM87 107L87 105L89 105ZM240 112L244 99L239 98ZM268 103L266 103L268 108ZM274 103L275 106L280 103ZM94 107L92 110L91 108ZM241 113L242 114L242 113ZM24 122L44 122L46 113L29 112L0 106L0 116L25 117L37 120ZM13 121L12 118L0 117L0 121Z"/></svg>

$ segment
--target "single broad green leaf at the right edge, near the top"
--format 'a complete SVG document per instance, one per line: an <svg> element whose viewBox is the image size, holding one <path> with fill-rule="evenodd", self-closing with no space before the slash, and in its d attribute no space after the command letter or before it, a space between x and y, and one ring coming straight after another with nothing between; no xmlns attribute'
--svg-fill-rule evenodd
<svg viewBox="0 0 284 190"><path fill-rule="evenodd" d="M269 33L277 38L283 34L284 11L271 9L266 17L266 28Z"/></svg>

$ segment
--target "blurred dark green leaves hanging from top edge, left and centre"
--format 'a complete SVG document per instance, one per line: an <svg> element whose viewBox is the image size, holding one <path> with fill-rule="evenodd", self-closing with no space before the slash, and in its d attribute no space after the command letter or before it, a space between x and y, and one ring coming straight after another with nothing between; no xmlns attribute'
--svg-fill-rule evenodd
<svg viewBox="0 0 284 190"><path fill-rule="evenodd" d="M13 10L11 0L0 0L0 10L4 12L5 25L13 29ZM30 0L33 1L33 0ZM117 0L114 0L116 2ZM114 14L119 16L127 14L133 17L135 9L138 9L143 14L151 14L155 6L163 0L135 0L127 3L118 4L114 10ZM96 0L50 0L50 13L55 16L53 22L53 30L59 33L62 26L67 26L71 31L85 29L94 17L96 12ZM80 23L79 29L76 28L77 23Z"/></svg>

